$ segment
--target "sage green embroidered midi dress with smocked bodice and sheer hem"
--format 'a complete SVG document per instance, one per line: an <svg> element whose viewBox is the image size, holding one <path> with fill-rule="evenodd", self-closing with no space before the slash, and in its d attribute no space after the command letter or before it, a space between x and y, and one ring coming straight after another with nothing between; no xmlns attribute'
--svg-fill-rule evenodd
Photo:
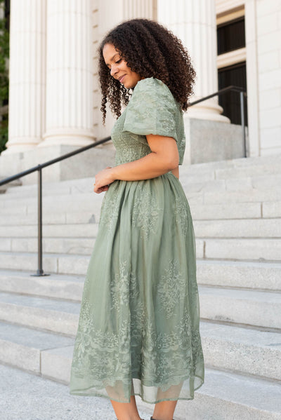
<svg viewBox="0 0 281 420"><path fill-rule="evenodd" d="M158 79L138 81L112 129L116 165L149 154L145 135L174 137L183 112ZM171 172L115 181L103 198L86 273L70 393L129 402L189 400L204 382L195 238L188 201Z"/></svg>

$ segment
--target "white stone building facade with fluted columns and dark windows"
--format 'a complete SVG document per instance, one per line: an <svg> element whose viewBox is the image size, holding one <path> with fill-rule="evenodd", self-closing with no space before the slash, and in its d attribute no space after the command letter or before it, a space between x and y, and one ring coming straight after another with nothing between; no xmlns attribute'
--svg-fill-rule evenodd
<svg viewBox="0 0 281 420"><path fill-rule="evenodd" d="M115 120L102 125L97 47L130 18L155 19L181 38L197 72L191 102L230 84L247 89L247 156L281 153L280 0L11 0L9 133L1 176L110 135ZM212 160L190 158L192 139L207 133L208 124L224 137L237 133L237 101L239 94L228 93L188 109L186 163ZM220 157L220 148L214 145L214 160L242 157L240 151ZM112 147L105 150L111 156Z"/></svg>

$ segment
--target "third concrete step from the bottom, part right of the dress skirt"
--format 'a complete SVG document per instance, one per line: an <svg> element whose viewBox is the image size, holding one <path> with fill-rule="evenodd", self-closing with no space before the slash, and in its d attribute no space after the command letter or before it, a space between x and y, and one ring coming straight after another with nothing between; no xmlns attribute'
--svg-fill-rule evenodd
<svg viewBox="0 0 281 420"><path fill-rule="evenodd" d="M199 293L203 320L281 330L281 293L205 286Z"/></svg>

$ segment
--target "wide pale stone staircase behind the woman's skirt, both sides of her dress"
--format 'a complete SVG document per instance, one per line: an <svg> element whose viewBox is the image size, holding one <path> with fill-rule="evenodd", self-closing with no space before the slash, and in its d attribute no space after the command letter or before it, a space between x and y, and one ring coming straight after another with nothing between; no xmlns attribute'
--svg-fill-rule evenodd
<svg viewBox="0 0 281 420"><path fill-rule="evenodd" d="M181 167L181 183L197 238L206 377L174 417L281 419L281 156ZM0 195L0 362L64 384L103 198L92 189L89 178L43 184L46 277L30 276L37 186ZM136 400L149 419L152 405Z"/></svg>

